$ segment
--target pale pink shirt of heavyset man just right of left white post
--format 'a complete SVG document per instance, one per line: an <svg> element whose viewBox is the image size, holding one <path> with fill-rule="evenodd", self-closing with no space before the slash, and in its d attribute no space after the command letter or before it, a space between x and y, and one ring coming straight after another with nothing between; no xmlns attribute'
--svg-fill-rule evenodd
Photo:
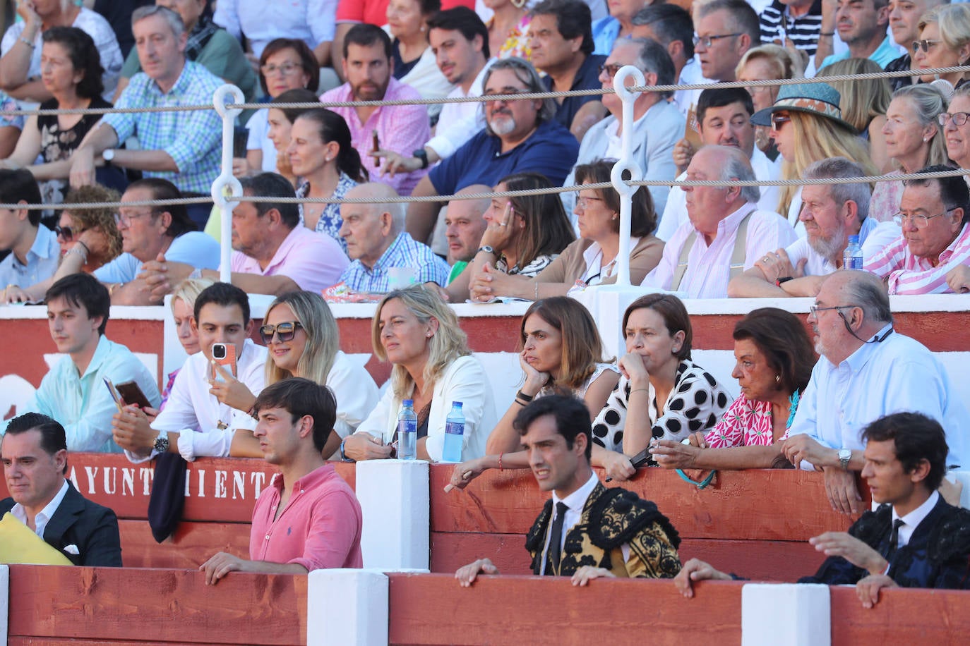
<svg viewBox="0 0 970 646"><path fill-rule="evenodd" d="M322 292L337 283L348 264L350 260L337 240L326 233L310 231L302 224L283 238L265 269L259 266L259 261L239 251L234 251L230 260L233 271L261 276L283 275L307 292Z"/></svg>

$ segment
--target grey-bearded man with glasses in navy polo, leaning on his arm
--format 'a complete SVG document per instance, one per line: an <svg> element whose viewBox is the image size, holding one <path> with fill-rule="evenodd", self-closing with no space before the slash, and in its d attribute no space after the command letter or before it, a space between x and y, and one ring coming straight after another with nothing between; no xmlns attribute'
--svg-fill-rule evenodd
<svg viewBox="0 0 970 646"><path fill-rule="evenodd" d="M483 96L545 92L535 68L511 56L496 61L485 77ZM513 172L540 172L561 186L576 162L579 142L556 122L552 99L489 100L482 104L486 127L424 177L412 197L454 195L470 184L495 186ZM407 232L423 242L435 228L440 201L410 202Z"/></svg>

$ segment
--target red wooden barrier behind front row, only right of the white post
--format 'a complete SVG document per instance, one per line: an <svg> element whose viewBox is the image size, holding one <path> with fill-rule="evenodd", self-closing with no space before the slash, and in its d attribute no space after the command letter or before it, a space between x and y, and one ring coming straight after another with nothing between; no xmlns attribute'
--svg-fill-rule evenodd
<svg viewBox="0 0 970 646"><path fill-rule="evenodd" d="M525 535L548 494L528 471L486 472L464 492L443 494L450 475L444 465L431 470L432 571L488 556L503 573L528 573ZM698 490L672 471L641 469L623 486L670 518L683 538L682 559L752 578L794 581L813 573L824 555L808 538L844 531L853 520L831 510L823 476L812 472L722 472ZM864 489L863 497L869 498Z"/></svg>

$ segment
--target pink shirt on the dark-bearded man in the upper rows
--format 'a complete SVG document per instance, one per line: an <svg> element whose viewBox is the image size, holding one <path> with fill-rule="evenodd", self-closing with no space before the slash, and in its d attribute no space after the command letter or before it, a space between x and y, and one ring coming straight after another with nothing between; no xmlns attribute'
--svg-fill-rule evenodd
<svg viewBox="0 0 970 646"><path fill-rule="evenodd" d="M324 92L320 101L354 101L350 90L350 83L343 83L339 87ZM384 101L398 101L420 99L417 90L391 77L384 92ZM418 169L412 172L397 172L394 177L381 175L380 168L374 164L369 153L373 150L372 132L377 131L380 147L384 150L410 157L411 153L431 138L431 125L428 123L428 108L426 106L382 106L375 109L368 117L367 123L361 123L356 108L330 108L343 117L350 128L350 141L360 153L361 163L371 173L371 180L383 182L394 187L398 195L409 196L418 181L428 173L428 169Z"/></svg>

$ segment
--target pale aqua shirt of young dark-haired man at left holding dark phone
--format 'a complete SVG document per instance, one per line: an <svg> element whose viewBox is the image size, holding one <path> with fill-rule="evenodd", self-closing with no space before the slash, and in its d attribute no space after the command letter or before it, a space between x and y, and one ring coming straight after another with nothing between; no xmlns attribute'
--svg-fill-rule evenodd
<svg viewBox="0 0 970 646"><path fill-rule="evenodd" d="M118 453L121 449L112 439L112 416L117 407L105 377L114 385L135 382L153 407L161 401L155 376L145 364L121 344L102 336L83 375L78 374L69 355L62 356L21 413L49 415L63 424L69 451Z"/></svg>

